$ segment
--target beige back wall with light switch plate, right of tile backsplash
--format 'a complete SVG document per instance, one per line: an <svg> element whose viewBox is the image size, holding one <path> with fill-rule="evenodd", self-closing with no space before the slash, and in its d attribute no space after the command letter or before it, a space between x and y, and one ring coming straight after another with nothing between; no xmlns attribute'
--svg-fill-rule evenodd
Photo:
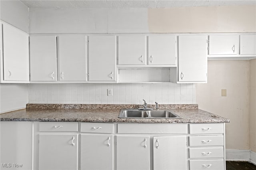
<svg viewBox="0 0 256 170"><path fill-rule="evenodd" d="M250 61L208 61L208 83L196 85L199 109L230 119L226 148L250 148ZM221 96L221 89L227 96Z"/></svg>

